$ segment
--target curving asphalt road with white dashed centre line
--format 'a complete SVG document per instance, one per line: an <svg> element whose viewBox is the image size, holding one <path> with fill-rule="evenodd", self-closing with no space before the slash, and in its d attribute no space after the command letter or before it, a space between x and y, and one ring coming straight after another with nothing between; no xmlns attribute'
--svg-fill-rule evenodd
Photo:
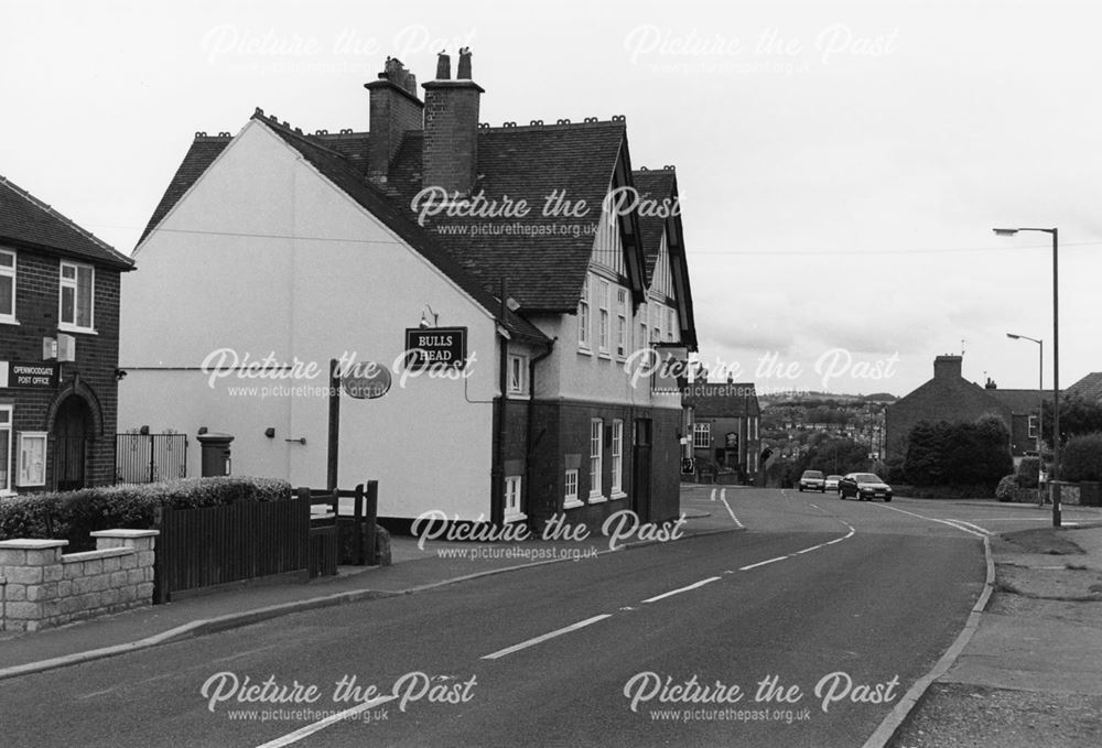
<svg viewBox="0 0 1102 748"><path fill-rule="evenodd" d="M745 532L0 682L0 742L861 746L979 597L981 508L712 497Z"/></svg>

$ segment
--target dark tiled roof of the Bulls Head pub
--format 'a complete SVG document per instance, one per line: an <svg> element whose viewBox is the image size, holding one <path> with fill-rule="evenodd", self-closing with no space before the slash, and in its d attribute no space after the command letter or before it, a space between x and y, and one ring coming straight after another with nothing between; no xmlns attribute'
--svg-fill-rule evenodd
<svg viewBox="0 0 1102 748"><path fill-rule="evenodd" d="M479 299L496 300L504 279L506 293L519 303L521 314L562 313L577 308L602 202L614 182L617 167L626 164L626 159L622 164L627 147L623 118L573 124L479 127L479 178L475 192L483 193L487 200L498 200L499 205L505 198L514 204L525 200L528 215L495 218L437 215L428 217L424 226L418 225L412 207L412 200L422 186L423 132L406 133L387 183L377 186L365 178L369 133L350 130L303 133L287 122L280 123L274 117L264 116L260 110L253 119L278 132L327 178L400 236L411 243L415 242L414 246L441 269L446 265L445 272L452 274L462 270L466 280L461 285L468 292L473 292L473 288L467 286L477 286ZM196 137L142 239L168 215L229 141L229 137ZM650 174L634 174L640 173ZM652 174L652 177L642 177L641 186L633 186L640 193L669 194L676 188L672 170ZM634 175L623 178L634 180ZM587 210L583 216L545 216L544 203L552 193L563 195L574 205L584 200ZM639 226L642 253L650 269L658 253L661 223L661 219L648 220L646 228ZM487 224L500 232L469 232L471 227ZM444 226L467 232L444 234L441 230ZM644 258L640 257L638 262L642 263ZM642 268L638 272L642 274ZM684 277L688 296L687 273ZM691 311L691 297L685 299L685 304ZM515 318L515 324L536 329L527 322L516 322L521 319L518 315L510 316ZM688 340L695 349L691 314L688 324Z"/></svg>

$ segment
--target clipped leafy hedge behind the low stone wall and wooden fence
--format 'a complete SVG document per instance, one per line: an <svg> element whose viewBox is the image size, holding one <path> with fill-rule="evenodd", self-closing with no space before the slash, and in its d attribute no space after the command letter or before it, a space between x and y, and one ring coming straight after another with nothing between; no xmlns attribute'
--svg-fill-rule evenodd
<svg viewBox="0 0 1102 748"><path fill-rule="evenodd" d="M95 544L97 530L154 527L159 507L193 509L236 501L281 501L291 484L273 478L182 478L156 484L96 486L54 494L22 494L0 500L0 540L54 538L75 551Z"/></svg>

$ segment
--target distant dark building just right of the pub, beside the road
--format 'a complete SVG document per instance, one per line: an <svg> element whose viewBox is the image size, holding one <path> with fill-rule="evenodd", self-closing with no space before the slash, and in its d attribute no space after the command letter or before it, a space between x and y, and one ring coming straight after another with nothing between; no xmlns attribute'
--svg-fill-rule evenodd
<svg viewBox="0 0 1102 748"><path fill-rule="evenodd" d="M685 387L692 453L699 462L756 481L761 469L761 409L753 382L696 382Z"/></svg>

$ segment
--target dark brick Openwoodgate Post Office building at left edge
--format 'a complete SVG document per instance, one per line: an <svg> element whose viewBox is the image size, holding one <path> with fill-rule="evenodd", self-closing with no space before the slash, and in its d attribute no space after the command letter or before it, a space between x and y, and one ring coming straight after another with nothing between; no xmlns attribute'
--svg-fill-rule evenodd
<svg viewBox="0 0 1102 748"><path fill-rule="evenodd" d="M0 176L0 500L114 483L133 262Z"/></svg>

